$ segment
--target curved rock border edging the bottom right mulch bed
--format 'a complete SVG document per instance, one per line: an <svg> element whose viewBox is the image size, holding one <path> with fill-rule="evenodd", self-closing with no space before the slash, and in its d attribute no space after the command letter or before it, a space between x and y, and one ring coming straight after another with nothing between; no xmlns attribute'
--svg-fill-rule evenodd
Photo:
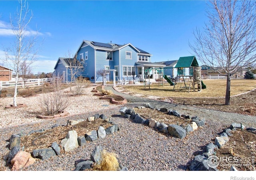
<svg viewBox="0 0 256 180"><path fill-rule="evenodd" d="M224 129L221 133L220 136L216 136L214 140L214 144L211 142L205 147L205 152L202 155L197 155L194 157L190 164L190 170L192 171L218 171L217 168L211 168L207 161L208 159L215 155L216 152L214 151L215 149L222 148L228 141L229 141L229 136L233 136L231 132L236 131L237 129L245 129L244 125L242 123L232 123L229 128ZM248 132L256 132L256 128L246 128ZM231 166L230 171L237 170L234 166Z"/></svg>

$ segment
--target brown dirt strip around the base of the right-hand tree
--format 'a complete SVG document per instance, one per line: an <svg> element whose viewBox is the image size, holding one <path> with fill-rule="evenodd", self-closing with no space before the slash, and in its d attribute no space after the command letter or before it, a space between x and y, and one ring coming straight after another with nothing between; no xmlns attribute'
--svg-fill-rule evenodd
<svg viewBox="0 0 256 180"><path fill-rule="evenodd" d="M256 90L233 96L230 97L230 105L225 105L225 98L172 98L172 100L177 104L256 116L255 97Z"/></svg>

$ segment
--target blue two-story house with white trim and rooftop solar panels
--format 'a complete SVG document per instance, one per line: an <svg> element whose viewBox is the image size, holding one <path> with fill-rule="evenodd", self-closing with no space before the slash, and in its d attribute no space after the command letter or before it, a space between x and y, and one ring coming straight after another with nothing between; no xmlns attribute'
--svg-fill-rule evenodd
<svg viewBox="0 0 256 180"><path fill-rule="evenodd" d="M152 63L152 54L136 48L132 44L112 44L83 40L79 46L76 57L84 64L82 76L89 78L91 82L102 82L102 76L97 73L100 70L116 70L115 80L132 80L134 77L144 79L144 69L162 68L165 65ZM156 74L157 72L151 72ZM59 58L54 74L62 75L64 81L70 81L70 74L65 58ZM154 76L153 76L154 77ZM158 78L158 76L155 76ZM113 80L113 74L108 75L108 80Z"/></svg>

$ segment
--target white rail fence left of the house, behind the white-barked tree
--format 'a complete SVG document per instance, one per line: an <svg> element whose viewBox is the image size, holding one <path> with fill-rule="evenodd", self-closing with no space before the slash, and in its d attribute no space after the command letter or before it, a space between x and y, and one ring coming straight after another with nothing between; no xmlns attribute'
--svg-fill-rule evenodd
<svg viewBox="0 0 256 180"><path fill-rule="evenodd" d="M26 82L19 80L18 87L27 87L27 86L40 86L45 82L49 82L51 78L42 78L42 79L27 79ZM4 88L9 88L15 86L15 81L0 81L0 90Z"/></svg>

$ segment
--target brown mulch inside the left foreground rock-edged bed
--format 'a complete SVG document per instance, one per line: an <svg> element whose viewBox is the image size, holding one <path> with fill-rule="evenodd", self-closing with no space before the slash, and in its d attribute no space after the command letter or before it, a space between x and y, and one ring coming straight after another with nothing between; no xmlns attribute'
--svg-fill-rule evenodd
<svg viewBox="0 0 256 180"><path fill-rule="evenodd" d="M51 147L53 142L60 144L60 141L68 134L68 131L75 130L78 136L84 136L87 132L98 130L99 126L103 126L106 129L112 124L97 118L94 121L82 121L73 126L58 126L41 133L35 132L28 136L22 136L20 146L24 146L24 151L32 153L35 149ZM61 153L64 153L64 151L62 150Z"/></svg>

